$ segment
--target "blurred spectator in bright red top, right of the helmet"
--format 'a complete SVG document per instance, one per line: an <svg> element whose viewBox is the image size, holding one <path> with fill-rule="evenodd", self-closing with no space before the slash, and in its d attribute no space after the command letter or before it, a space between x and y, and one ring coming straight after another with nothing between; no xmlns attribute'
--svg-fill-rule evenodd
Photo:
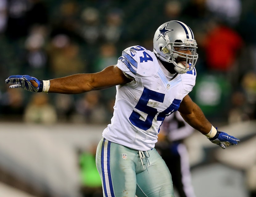
<svg viewBox="0 0 256 197"><path fill-rule="evenodd" d="M236 88L241 76L238 62L244 46L243 39L235 30L219 20L210 20L207 24L203 43L207 69L222 75Z"/></svg>

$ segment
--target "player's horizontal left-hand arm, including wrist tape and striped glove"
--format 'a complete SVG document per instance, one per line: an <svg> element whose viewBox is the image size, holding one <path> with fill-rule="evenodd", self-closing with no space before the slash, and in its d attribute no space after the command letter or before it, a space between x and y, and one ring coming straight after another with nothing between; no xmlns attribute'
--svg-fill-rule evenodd
<svg viewBox="0 0 256 197"><path fill-rule="evenodd" d="M79 94L91 90L105 89L130 82L116 65L108 66L98 73L73 74L51 80L39 80L29 75L11 75L5 82L10 88L23 88L31 92Z"/></svg>

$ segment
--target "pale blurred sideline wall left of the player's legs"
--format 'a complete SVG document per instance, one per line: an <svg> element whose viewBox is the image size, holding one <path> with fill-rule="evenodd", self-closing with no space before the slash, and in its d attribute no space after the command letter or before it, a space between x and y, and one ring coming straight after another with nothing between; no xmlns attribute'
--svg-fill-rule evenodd
<svg viewBox="0 0 256 197"><path fill-rule="evenodd" d="M39 191L49 190L56 196L79 196L76 150L98 143L104 128L1 123L0 165Z"/></svg>

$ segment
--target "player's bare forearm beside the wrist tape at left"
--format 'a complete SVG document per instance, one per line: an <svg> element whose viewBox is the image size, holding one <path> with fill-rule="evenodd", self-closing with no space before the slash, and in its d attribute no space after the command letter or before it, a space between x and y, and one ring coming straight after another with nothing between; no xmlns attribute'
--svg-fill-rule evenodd
<svg viewBox="0 0 256 197"><path fill-rule="evenodd" d="M74 74L50 80L48 92L61 94L80 94L94 90L91 74Z"/></svg>

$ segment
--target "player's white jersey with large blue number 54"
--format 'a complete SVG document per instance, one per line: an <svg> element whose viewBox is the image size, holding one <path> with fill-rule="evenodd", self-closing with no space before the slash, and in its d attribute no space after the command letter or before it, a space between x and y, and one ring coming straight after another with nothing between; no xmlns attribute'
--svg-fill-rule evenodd
<svg viewBox="0 0 256 197"><path fill-rule="evenodd" d="M102 136L114 143L148 151L155 147L164 118L196 83L196 70L171 79L152 51L132 46L122 52L117 66L134 81L118 85L114 114Z"/></svg>

